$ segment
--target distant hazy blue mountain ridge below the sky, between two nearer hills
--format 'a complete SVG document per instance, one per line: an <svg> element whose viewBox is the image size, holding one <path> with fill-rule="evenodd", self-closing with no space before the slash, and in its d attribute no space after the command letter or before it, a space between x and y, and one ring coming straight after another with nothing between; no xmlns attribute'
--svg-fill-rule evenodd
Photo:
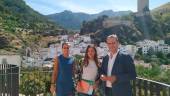
<svg viewBox="0 0 170 96"><path fill-rule="evenodd" d="M97 19L97 17L102 16L102 15L115 17L115 16L124 16L130 13L131 11L114 12L112 10L104 10L96 14L87 14L83 12L72 12L69 10L64 10L63 12L46 15L46 16L49 18L49 20L57 22L64 28L80 29L83 21L94 20L94 19Z"/></svg>

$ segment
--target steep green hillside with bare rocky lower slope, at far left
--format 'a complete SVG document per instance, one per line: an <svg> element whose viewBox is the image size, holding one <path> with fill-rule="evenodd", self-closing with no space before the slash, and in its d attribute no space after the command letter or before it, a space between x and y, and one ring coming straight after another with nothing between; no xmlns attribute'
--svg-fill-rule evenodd
<svg viewBox="0 0 170 96"><path fill-rule="evenodd" d="M0 50L17 52L35 45L44 35L57 35L61 31L23 0L0 0Z"/></svg>

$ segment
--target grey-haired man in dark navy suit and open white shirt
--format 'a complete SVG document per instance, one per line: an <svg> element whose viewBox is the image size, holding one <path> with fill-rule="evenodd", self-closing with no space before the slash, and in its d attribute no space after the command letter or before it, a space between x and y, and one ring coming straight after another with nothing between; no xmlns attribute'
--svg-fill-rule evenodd
<svg viewBox="0 0 170 96"><path fill-rule="evenodd" d="M132 96L130 81L136 78L133 59L119 52L117 35L106 39L109 53L103 58L100 79L104 81L106 96Z"/></svg>

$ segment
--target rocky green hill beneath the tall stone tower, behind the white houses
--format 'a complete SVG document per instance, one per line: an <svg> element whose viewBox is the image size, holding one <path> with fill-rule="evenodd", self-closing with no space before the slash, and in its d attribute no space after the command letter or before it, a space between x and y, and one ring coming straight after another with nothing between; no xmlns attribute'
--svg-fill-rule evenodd
<svg viewBox="0 0 170 96"><path fill-rule="evenodd" d="M104 27L105 21L109 21L110 25ZM98 41L104 41L106 36L113 33L120 37L122 44L133 44L143 39L164 39L170 44L170 3L143 15L132 13L122 17L100 17L86 21L80 31L80 34L91 34Z"/></svg>

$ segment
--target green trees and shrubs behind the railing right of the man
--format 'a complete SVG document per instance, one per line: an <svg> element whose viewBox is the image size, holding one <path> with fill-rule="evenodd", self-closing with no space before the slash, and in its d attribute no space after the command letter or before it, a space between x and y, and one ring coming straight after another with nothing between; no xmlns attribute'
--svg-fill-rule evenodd
<svg viewBox="0 0 170 96"><path fill-rule="evenodd" d="M138 77L170 84L170 69L168 69L170 53L154 52L152 48L149 49L148 54L142 54L141 51L137 52L135 59L143 60L146 64L136 64Z"/></svg>

